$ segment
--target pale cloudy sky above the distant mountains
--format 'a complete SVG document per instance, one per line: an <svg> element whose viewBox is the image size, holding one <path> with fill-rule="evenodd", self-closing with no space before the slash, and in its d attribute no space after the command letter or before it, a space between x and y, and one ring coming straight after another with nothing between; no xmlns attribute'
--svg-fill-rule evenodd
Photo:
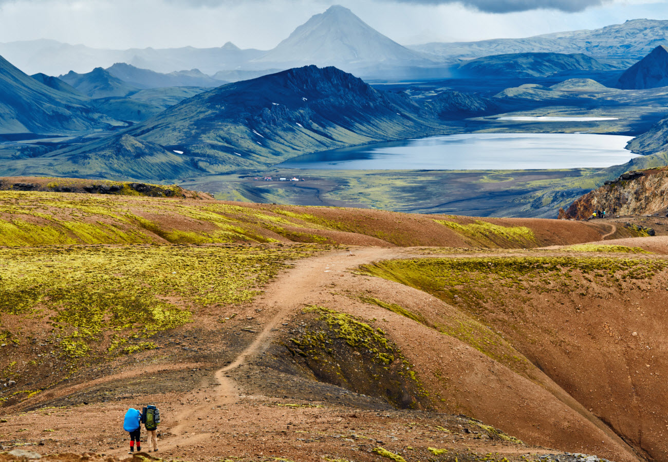
<svg viewBox="0 0 668 462"><path fill-rule="evenodd" d="M0 42L271 49L337 3L402 44L528 37L668 19L665 0L0 0Z"/></svg>

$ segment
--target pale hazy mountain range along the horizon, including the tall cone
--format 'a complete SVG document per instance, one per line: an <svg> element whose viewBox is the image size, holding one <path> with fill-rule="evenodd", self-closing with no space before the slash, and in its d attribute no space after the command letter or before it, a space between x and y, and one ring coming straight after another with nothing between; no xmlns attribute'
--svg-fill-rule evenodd
<svg viewBox="0 0 668 462"><path fill-rule="evenodd" d="M229 42L222 47L206 49L103 50L37 40L0 43L0 55L30 73L88 73L90 69L102 67L110 70L115 77L142 88L146 77L130 75L126 69L112 69L116 63L125 63L140 69L168 73L171 80L166 79L161 86L206 87L214 85L209 75L219 80L242 80L309 64L335 65L365 77L398 75L388 73L397 69L405 69L409 75L418 77L443 77L447 75L449 66L458 65L463 59L516 53L585 54L597 59L601 65L628 66L631 65L629 60L640 59L658 45L668 45L667 29L668 21L635 19L602 29L552 33L526 39L404 47L375 31L349 9L335 5L311 17L269 51L240 49ZM182 69L193 70L183 72Z"/></svg>

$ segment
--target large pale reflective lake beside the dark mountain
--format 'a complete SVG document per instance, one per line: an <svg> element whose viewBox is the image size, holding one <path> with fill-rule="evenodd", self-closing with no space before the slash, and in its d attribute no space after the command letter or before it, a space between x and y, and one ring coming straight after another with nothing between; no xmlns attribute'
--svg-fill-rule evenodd
<svg viewBox="0 0 668 462"><path fill-rule="evenodd" d="M534 170L624 164L631 136L595 134L456 134L307 154L280 168L316 170Z"/></svg>

